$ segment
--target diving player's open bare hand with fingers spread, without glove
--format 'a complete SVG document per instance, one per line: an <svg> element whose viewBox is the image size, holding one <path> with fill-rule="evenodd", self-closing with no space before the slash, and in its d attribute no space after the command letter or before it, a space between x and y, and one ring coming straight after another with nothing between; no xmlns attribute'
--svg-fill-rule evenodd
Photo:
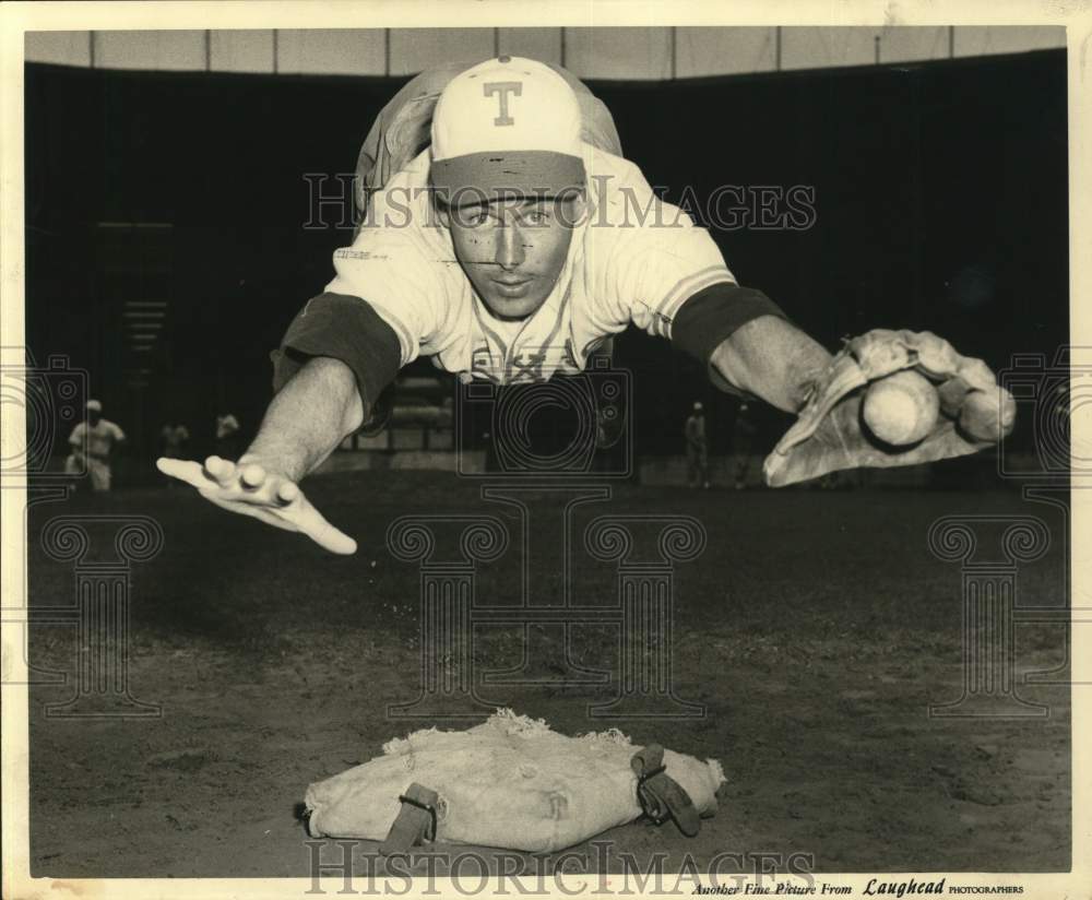
<svg viewBox="0 0 1092 900"><path fill-rule="evenodd" d="M331 553L356 553L356 542L331 525L294 481L246 458L238 464L209 457L204 464L161 457L156 467L195 487L206 500L230 512L252 516L274 528L298 531Z"/></svg>

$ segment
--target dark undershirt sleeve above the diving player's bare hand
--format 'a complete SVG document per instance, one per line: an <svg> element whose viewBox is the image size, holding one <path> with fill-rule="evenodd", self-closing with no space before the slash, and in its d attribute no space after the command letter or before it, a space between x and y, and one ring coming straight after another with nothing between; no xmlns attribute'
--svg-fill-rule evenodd
<svg viewBox="0 0 1092 900"><path fill-rule="evenodd" d="M359 297L320 294L293 319L273 351L273 391L280 391L308 359L340 359L356 376L367 418L380 392L394 380L402 348L394 330Z"/></svg>

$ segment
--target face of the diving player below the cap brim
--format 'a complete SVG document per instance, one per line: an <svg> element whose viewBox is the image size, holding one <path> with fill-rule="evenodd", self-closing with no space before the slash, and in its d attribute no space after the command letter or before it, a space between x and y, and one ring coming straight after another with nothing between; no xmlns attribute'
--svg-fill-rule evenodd
<svg viewBox="0 0 1092 900"><path fill-rule="evenodd" d="M509 200L448 212L455 257L494 316L524 319L545 303L565 265L579 202Z"/></svg>

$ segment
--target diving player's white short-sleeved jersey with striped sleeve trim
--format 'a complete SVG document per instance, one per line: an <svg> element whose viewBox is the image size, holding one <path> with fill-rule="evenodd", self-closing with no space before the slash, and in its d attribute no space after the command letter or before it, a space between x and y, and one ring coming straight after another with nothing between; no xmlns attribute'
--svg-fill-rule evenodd
<svg viewBox="0 0 1092 900"><path fill-rule="evenodd" d="M367 301L397 335L402 366L430 356L463 380L581 371L630 322L669 339L685 300L735 279L709 233L656 198L637 166L590 144L584 165L587 213L554 291L526 320L495 318L463 273L430 206L428 150L372 194L353 246L334 253L327 293Z"/></svg>

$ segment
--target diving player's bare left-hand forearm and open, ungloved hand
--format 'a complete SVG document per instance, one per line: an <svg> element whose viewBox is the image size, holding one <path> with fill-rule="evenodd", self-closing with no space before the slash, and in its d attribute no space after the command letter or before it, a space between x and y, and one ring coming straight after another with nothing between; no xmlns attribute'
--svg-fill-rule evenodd
<svg viewBox="0 0 1092 900"><path fill-rule="evenodd" d="M216 506L298 531L332 553L351 554L356 542L311 506L298 483L363 419L353 370L337 359L316 357L273 398L238 463L218 457L203 464L161 458L156 466Z"/></svg>

